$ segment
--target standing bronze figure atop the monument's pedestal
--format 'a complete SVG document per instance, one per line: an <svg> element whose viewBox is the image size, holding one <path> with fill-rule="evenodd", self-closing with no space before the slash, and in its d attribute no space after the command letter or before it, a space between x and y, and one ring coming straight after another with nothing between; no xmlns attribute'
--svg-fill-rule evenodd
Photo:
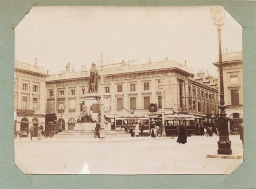
<svg viewBox="0 0 256 189"><path fill-rule="evenodd" d="M89 86L88 93L98 92L98 71L96 69L95 63L92 63L92 67L90 69L89 85L88 86Z"/></svg>

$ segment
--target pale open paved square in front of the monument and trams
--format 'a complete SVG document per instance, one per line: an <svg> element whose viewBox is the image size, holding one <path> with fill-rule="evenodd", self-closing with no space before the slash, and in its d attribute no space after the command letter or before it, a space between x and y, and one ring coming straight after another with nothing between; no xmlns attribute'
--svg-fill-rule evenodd
<svg viewBox="0 0 256 189"><path fill-rule="evenodd" d="M242 159L206 158L216 154L218 137L15 139L15 161L32 174L228 174ZM230 136L233 155L243 155L238 135Z"/></svg>

